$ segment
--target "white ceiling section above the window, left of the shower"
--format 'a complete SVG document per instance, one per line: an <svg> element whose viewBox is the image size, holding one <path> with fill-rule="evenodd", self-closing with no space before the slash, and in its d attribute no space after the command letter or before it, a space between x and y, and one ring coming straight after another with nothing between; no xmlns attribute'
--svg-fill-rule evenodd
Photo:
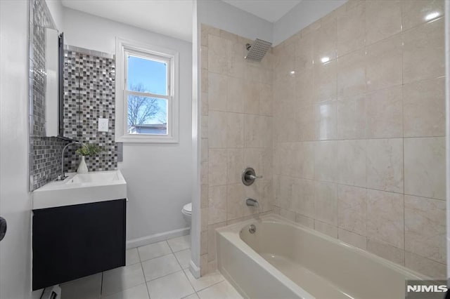
<svg viewBox="0 0 450 299"><path fill-rule="evenodd" d="M61 2L65 7L91 15L184 41L192 39L192 0L62 0Z"/></svg>

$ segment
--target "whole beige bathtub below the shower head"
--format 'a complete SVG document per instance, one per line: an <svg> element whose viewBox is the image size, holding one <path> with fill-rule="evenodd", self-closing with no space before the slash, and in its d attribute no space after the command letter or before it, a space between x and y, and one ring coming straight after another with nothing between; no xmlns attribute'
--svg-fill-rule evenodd
<svg viewBox="0 0 450 299"><path fill-rule="evenodd" d="M278 215L221 227L216 241L219 271L245 298L399 299L406 279L428 279Z"/></svg>

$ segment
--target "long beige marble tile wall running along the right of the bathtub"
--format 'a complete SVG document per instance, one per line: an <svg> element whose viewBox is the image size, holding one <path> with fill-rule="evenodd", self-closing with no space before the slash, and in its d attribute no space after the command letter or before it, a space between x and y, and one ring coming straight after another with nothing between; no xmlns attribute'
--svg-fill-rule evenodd
<svg viewBox="0 0 450 299"><path fill-rule="evenodd" d="M442 0L351 0L272 51L276 209L439 278L443 13Z"/></svg>

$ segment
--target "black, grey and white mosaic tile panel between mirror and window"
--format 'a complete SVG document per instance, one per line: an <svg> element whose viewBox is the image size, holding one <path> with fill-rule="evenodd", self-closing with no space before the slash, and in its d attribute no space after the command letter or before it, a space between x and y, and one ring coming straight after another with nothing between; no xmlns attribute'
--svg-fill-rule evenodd
<svg viewBox="0 0 450 299"><path fill-rule="evenodd" d="M66 46L64 51L64 135L98 143L103 152L86 157L90 171L117 168L115 131L115 61L102 53ZM98 118L109 119L108 132L98 132ZM68 148L67 171L77 171L77 145Z"/></svg>

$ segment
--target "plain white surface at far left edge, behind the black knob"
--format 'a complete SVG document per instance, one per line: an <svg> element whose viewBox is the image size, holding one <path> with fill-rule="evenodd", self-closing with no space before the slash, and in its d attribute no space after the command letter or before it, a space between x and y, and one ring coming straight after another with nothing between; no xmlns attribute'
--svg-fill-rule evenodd
<svg viewBox="0 0 450 299"><path fill-rule="evenodd" d="M0 298L31 296L28 1L0 1Z"/></svg>

